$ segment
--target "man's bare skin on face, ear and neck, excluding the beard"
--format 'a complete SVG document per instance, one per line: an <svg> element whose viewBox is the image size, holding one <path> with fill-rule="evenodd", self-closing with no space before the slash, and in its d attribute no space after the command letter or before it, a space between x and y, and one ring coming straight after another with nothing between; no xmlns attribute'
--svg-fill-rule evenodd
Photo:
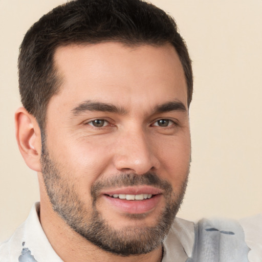
<svg viewBox="0 0 262 262"><path fill-rule="evenodd" d="M173 192L180 193L187 179L191 150L187 86L174 48L130 48L116 42L71 45L59 47L54 60L62 83L60 92L48 105L46 145L50 159L74 186L87 212L92 208L91 186L120 173L155 172L171 184ZM86 101L113 104L121 111L77 111ZM155 111L168 102L182 104L184 110ZM96 127L92 122L96 119L106 121ZM168 125L161 126L161 119ZM38 172L42 228L61 259L161 260L161 246L148 254L120 257L101 250L71 229L50 203L40 165L40 130L24 108L16 112L16 129L21 154L28 166ZM156 225L156 217L165 204L160 193L159 200L142 211L143 219L132 219L128 213L134 213L133 209L123 210L101 193L96 208L110 226L121 230Z"/></svg>

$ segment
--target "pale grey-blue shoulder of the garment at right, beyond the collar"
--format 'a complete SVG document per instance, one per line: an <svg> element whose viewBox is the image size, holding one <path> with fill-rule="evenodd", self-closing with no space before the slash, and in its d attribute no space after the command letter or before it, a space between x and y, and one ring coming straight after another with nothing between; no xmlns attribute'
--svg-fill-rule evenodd
<svg viewBox="0 0 262 262"><path fill-rule="evenodd" d="M239 221L203 219L196 225L193 256L200 261L218 256L227 257L227 261L261 262L261 235L261 215Z"/></svg>

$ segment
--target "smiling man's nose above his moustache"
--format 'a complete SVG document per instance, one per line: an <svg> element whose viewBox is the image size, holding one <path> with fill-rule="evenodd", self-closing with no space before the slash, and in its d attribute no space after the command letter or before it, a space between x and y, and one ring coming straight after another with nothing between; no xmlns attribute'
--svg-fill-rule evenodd
<svg viewBox="0 0 262 262"><path fill-rule="evenodd" d="M115 168L122 172L144 174L159 168L160 162L154 152L154 143L142 130L121 134L116 143Z"/></svg>

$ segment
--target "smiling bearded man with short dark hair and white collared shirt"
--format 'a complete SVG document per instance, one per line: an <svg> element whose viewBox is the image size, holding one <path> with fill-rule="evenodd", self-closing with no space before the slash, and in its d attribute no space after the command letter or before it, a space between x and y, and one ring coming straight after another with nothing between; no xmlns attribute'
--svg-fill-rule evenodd
<svg viewBox="0 0 262 262"><path fill-rule="evenodd" d="M74 1L19 55L16 137L40 203L1 261L248 261L241 225L175 219L190 165L191 61L138 0Z"/></svg>

